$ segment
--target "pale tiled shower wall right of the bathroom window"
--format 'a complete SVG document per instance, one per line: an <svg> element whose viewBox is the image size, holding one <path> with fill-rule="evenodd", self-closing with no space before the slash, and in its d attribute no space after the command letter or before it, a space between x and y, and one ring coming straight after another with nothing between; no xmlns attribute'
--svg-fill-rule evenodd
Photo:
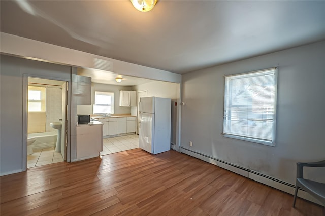
<svg viewBox="0 0 325 216"><path fill-rule="evenodd" d="M62 119L62 89L46 88L46 132L56 131L50 126L51 122Z"/></svg>

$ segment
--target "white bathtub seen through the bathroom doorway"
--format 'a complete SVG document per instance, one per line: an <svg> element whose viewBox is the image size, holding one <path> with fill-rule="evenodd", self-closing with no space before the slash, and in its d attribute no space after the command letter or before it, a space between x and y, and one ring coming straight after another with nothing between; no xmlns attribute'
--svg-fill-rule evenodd
<svg viewBox="0 0 325 216"><path fill-rule="evenodd" d="M35 137L36 141L31 145L33 150L55 148L57 131L43 133L28 133L28 137Z"/></svg>

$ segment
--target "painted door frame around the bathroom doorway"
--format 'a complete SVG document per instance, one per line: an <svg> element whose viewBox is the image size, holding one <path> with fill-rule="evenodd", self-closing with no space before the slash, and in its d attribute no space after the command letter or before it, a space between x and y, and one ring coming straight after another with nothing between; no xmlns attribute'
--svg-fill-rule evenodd
<svg viewBox="0 0 325 216"><path fill-rule="evenodd" d="M66 161L70 162L70 129L68 125L70 125L71 122L71 81L69 79L62 79L58 77L49 77L49 76L44 76L44 75L39 75L39 74L27 74L23 73L23 103L22 103L22 171L27 170L27 137L28 137L28 112L27 112L27 94L28 94L28 78L33 77L33 78L41 78L41 79L47 79L47 80L59 80L59 81L64 81L67 83L68 86L68 91L66 92L66 105L68 106L68 112L66 112L67 119L68 119L68 124L66 124L65 130L67 131L67 146L66 146Z"/></svg>

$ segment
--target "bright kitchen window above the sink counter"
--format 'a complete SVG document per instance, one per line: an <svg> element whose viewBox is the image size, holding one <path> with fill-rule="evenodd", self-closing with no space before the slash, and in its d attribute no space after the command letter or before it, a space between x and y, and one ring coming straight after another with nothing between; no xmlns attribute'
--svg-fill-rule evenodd
<svg viewBox="0 0 325 216"><path fill-rule="evenodd" d="M114 92L95 91L95 104L92 113L114 113Z"/></svg>

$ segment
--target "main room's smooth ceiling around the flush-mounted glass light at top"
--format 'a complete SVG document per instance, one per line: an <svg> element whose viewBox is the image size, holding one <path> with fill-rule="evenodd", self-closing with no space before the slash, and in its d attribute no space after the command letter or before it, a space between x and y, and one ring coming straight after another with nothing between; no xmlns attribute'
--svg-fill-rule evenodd
<svg viewBox="0 0 325 216"><path fill-rule="evenodd" d="M2 32L179 74L325 40L325 1L0 4Z"/></svg>

